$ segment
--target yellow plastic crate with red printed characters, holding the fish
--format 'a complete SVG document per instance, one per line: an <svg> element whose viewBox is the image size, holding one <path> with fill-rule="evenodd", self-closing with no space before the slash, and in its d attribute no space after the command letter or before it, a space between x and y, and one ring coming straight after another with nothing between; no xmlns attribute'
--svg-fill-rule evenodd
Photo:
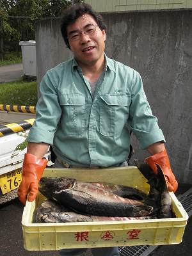
<svg viewBox="0 0 192 256"><path fill-rule="evenodd" d="M106 169L47 168L44 176L74 177L77 180L111 182L133 186L147 192L146 179L135 166ZM98 221L78 223L31 223L33 211L44 196L27 202L22 214L24 248L29 251L62 248L93 248L178 244L182 241L188 214L173 193L172 209L177 218L131 221Z"/></svg>

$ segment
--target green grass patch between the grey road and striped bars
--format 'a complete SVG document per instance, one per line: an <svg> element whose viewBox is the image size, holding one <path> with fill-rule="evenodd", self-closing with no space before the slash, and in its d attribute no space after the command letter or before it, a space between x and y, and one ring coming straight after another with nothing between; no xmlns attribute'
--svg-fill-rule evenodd
<svg viewBox="0 0 192 256"><path fill-rule="evenodd" d="M22 80L0 84L0 104L36 106L37 84Z"/></svg>

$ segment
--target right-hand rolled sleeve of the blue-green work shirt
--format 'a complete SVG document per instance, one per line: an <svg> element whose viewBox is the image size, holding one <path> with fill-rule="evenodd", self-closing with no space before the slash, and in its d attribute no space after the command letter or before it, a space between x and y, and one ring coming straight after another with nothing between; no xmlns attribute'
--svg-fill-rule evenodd
<svg viewBox="0 0 192 256"><path fill-rule="evenodd" d="M152 115L148 104L143 83L138 72L134 71L131 88L131 106L129 125L140 142L141 148L147 148L153 143L164 141L164 135L158 125L156 116Z"/></svg>

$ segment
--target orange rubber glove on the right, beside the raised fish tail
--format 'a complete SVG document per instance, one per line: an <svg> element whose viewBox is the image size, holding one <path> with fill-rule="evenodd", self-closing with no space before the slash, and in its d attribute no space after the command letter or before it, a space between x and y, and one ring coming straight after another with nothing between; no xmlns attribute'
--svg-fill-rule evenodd
<svg viewBox="0 0 192 256"><path fill-rule="evenodd" d="M159 164L161 169L163 170L166 183L168 186L168 190L170 192L175 192L178 188L177 180L175 179L175 176L172 172L172 168L170 166L170 160L168 158L168 155L166 153L166 149L153 155L150 157L147 157L146 159L147 164L152 168L154 173L157 174L157 166L156 164Z"/></svg>

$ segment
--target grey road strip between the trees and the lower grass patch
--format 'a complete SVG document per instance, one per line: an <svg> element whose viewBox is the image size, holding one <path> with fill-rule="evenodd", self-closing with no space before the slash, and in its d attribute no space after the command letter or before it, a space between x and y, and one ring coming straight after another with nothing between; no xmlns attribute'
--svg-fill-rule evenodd
<svg viewBox="0 0 192 256"><path fill-rule="evenodd" d="M15 81L23 75L22 63L0 67L0 83Z"/></svg>

